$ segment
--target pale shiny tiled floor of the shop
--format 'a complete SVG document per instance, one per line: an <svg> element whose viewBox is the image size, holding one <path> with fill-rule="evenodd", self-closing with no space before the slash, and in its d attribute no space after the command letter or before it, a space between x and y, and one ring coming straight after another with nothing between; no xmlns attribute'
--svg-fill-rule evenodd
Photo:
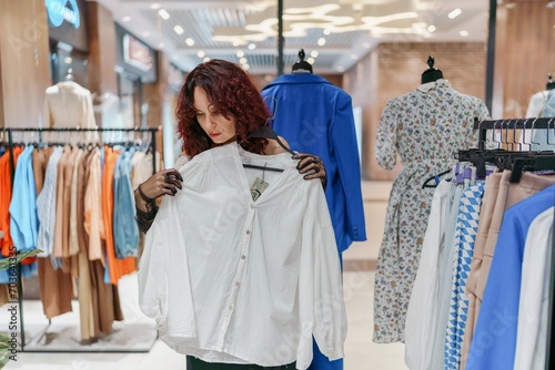
<svg viewBox="0 0 555 370"><path fill-rule="evenodd" d="M383 233L385 207L391 183L363 183L366 234L369 240L355 243L345 251L344 295L347 309L349 335L345 342L345 370L404 370L402 343L377 345L372 342L374 273L361 269L375 265ZM133 286L130 277L125 284ZM125 289L121 289L124 291ZM132 288L127 291L134 291ZM137 297L125 297L128 300ZM133 305L127 305L133 310ZM0 322L7 322L7 312L0 308ZM27 317L40 312L39 305L26 306ZM131 312L135 315L135 312ZM40 316L37 314L34 316ZM62 319L62 318L60 318ZM56 320L52 320L53 322ZM3 329L3 328L2 328ZM24 370L184 370L184 358L157 341L148 353L30 353L20 352L17 362L7 369Z"/></svg>

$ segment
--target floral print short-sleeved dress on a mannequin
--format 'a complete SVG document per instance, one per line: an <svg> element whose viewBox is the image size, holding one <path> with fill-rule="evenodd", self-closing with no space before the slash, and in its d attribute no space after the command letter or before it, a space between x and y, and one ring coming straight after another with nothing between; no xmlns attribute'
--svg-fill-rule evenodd
<svg viewBox="0 0 555 370"><path fill-rule="evenodd" d="M457 92L446 80L423 84L385 105L377 129L376 160L392 169L398 154L403 171L393 183L377 257L375 342L404 341L406 309L434 193L422 185L455 164L453 154L458 150L477 147L474 117L490 119L484 102Z"/></svg>

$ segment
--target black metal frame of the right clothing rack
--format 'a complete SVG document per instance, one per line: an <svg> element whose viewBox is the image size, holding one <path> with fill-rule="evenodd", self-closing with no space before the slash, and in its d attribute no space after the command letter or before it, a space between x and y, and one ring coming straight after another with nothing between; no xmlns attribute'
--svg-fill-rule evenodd
<svg viewBox="0 0 555 370"><path fill-rule="evenodd" d="M478 148L485 148L486 133L488 130L505 130L516 131L516 130L546 130L552 129L552 124L555 124L555 117L538 117L538 119L509 119L509 120L485 120L478 121L474 120L474 130L478 130ZM554 126L555 127L555 126ZM503 134L503 133L502 133ZM513 135L514 137L514 135ZM503 140L502 140L503 142ZM508 142L508 141L507 141ZM526 143L529 144L529 143ZM554 145L555 150L555 145ZM554 153L555 155L555 153ZM521 168L522 169L522 168ZM555 168L551 168L555 169ZM554 199L555 201L555 199ZM547 349L545 354L545 369L555 369L555 222L553 225L552 235L552 260L551 260L551 288L549 288L549 309L548 309L548 320L547 320Z"/></svg>

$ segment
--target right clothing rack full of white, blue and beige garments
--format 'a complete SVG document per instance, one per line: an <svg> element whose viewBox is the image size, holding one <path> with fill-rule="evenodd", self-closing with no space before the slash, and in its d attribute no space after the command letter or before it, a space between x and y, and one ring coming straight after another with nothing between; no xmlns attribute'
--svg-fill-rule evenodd
<svg viewBox="0 0 555 370"><path fill-rule="evenodd" d="M518 134L554 127L475 121L477 147L436 179L407 310L408 369L553 366L555 137L554 151L523 151L532 141Z"/></svg>

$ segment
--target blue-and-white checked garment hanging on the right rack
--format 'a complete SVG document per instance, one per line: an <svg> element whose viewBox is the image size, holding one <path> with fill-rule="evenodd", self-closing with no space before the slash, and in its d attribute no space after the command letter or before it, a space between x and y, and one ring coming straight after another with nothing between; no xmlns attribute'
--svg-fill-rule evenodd
<svg viewBox="0 0 555 370"><path fill-rule="evenodd" d="M458 369L461 366L463 339L468 314L468 298L466 297L466 280L471 273L474 243L478 232L480 209L484 196L485 182L478 182L467 187L458 204L456 222L451 298L448 302L448 320L445 335L445 369Z"/></svg>

